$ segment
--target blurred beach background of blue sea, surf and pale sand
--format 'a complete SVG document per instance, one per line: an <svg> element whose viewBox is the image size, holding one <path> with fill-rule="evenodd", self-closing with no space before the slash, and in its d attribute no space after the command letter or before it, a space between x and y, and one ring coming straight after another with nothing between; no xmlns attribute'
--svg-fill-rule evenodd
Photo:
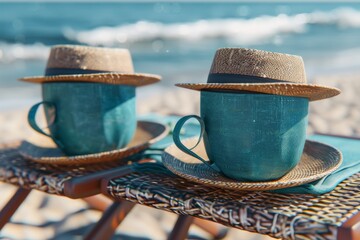
<svg viewBox="0 0 360 240"><path fill-rule="evenodd" d="M174 84L206 82L217 48L301 55L308 82L342 90L335 98L310 104L309 134L360 135L360 2L0 2L0 142L34 134L26 124L26 114L41 100L41 86L17 79L43 75L49 49L56 44L128 48L136 72L162 75L160 83L137 90L139 114L198 113L198 93ZM0 185L8 196L11 189ZM46 198L52 197L34 194L29 208L40 208L38 202ZM56 205L51 201L49 212ZM67 201L73 202L71 207L81 205ZM75 216L85 218L79 214L84 215ZM64 216L58 223L71 226L61 221ZM88 217L83 223L96 218ZM141 218L161 223L151 211ZM23 230L14 231L19 225ZM60 231L26 227L24 213L19 211L0 238L47 239ZM145 231L143 237L165 236L151 234Z"/></svg>

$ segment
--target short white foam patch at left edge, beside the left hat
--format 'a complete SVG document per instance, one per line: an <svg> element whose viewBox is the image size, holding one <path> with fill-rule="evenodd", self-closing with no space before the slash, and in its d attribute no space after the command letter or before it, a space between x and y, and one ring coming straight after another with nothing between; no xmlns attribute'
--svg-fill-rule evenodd
<svg viewBox="0 0 360 240"><path fill-rule="evenodd" d="M0 63L11 63L16 60L45 60L49 47L41 44L21 44L0 42Z"/></svg>

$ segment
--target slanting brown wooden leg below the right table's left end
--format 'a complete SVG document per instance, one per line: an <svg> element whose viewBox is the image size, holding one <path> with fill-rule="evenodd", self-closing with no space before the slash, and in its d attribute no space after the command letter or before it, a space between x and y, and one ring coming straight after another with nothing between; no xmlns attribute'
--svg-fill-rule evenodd
<svg viewBox="0 0 360 240"><path fill-rule="evenodd" d="M125 219L126 215L135 206L129 201L114 202L103 214L101 219L85 236L85 240L105 240L110 239L116 228Z"/></svg>

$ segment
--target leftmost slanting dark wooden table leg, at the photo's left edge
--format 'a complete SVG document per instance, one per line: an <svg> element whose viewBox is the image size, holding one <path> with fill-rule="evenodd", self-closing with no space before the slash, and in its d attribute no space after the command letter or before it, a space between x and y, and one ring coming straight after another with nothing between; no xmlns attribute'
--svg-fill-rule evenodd
<svg viewBox="0 0 360 240"><path fill-rule="evenodd" d="M5 207L0 212L0 230L9 222L10 218L19 206L24 202L31 190L25 188L19 188L12 198L6 203Z"/></svg>

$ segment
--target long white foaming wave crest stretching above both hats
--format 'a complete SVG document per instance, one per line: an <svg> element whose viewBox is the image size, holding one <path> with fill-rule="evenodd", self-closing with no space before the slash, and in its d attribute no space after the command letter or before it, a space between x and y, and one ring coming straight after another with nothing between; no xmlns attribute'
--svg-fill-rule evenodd
<svg viewBox="0 0 360 240"><path fill-rule="evenodd" d="M206 38L234 38L240 43L251 43L277 33L301 32L303 26L297 19L279 15L252 20L214 19L176 24L139 21L118 27L99 27L90 31L67 30L65 36L81 43L104 46L156 39L200 41Z"/></svg>

